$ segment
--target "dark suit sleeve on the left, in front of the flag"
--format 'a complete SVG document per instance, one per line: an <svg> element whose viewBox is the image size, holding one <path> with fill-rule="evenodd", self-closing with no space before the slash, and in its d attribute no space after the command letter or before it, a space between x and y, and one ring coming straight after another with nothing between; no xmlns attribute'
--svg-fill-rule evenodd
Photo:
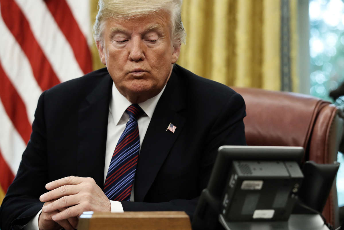
<svg viewBox="0 0 344 230"><path fill-rule="evenodd" d="M30 141L22 155L17 175L0 208L1 229L22 229L43 206L39 196L47 191L44 94L39 98Z"/></svg>

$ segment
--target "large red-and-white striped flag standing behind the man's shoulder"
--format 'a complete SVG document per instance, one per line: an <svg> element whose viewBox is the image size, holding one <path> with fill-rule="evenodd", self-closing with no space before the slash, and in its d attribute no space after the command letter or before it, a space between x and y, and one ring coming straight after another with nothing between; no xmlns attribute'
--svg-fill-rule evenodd
<svg viewBox="0 0 344 230"><path fill-rule="evenodd" d="M42 91L92 71L90 1L0 0L0 204Z"/></svg>

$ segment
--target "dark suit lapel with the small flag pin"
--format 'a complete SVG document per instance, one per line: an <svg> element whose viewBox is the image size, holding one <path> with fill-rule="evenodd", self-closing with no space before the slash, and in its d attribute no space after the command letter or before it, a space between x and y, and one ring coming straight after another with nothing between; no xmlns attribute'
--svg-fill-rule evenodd
<svg viewBox="0 0 344 230"><path fill-rule="evenodd" d="M172 72L144 136L135 176L135 201L143 201L183 129L185 118L181 110L185 99L178 81ZM176 126L174 133L166 131L170 122Z"/></svg>

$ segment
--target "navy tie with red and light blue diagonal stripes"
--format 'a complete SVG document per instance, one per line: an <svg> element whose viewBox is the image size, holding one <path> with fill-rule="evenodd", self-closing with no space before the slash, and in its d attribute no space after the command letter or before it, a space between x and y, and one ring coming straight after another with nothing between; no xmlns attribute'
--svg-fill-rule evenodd
<svg viewBox="0 0 344 230"><path fill-rule="evenodd" d="M138 104L126 110L129 121L120 136L112 155L104 184L104 193L110 200L130 201L140 151L140 135L137 120L143 114Z"/></svg>

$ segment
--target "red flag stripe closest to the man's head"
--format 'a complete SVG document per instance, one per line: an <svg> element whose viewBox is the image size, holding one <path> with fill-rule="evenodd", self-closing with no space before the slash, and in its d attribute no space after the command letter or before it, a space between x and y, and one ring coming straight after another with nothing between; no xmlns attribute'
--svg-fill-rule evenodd
<svg viewBox="0 0 344 230"><path fill-rule="evenodd" d="M91 53L84 34L73 17L71 9L65 0L46 0L48 9L56 23L72 46L74 56L84 74L92 71Z"/></svg>

